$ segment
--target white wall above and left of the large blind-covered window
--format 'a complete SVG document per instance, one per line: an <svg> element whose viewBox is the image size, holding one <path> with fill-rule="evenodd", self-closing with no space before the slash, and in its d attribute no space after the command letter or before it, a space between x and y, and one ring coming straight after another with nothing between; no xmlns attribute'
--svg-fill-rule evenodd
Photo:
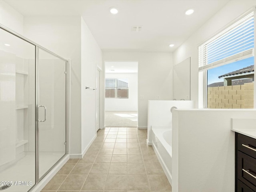
<svg viewBox="0 0 256 192"><path fill-rule="evenodd" d="M173 64L176 65L191 57L191 100L196 106L203 106L203 97L198 96L198 46L214 36L236 18L256 6L255 0L229 1L219 12L199 28L186 42L173 52ZM202 78L203 80L203 78ZM202 84L201 84L202 85ZM199 102L198 102L199 100Z"/></svg>

